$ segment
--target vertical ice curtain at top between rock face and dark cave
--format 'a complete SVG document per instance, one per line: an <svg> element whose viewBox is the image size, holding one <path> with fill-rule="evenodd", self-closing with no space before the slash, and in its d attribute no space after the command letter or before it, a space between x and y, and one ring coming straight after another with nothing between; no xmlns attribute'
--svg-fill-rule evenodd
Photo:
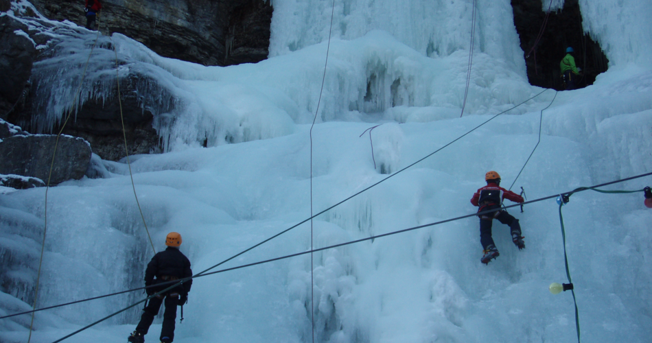
<svg viewBox="0 0 652 343"><path fill-rule="evenodd" d="M335 0L332 37L352 40L373 30L430 57L468 52L473 0L392 1ZM507 0L477 1L475 49L504 60L525 75L523 51ZM329 36L331 1L275 0L270 57L321 43Z"/></svg>

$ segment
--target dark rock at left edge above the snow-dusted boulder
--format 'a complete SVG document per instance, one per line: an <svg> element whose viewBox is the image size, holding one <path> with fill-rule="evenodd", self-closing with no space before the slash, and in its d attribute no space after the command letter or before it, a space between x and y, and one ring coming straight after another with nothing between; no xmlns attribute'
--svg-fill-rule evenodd
<svg viewBox="0 0 652 343"><path fill-rule="evenodd" d="M25 32L24 35L14 32ZM32 74L36 49L27 38L27 26L10 16L0 17L0 116L6 117L23 98ZM4 118L6 119L6 118Z"/></svg>

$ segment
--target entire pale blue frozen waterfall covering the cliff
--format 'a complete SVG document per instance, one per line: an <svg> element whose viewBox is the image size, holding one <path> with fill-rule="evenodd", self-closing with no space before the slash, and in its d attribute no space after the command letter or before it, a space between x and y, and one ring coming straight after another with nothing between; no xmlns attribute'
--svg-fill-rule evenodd
<svg viewBox="0 0 652 343"><path fill-rule="evenodd" d="M419 1L348 2L356 20L347 23L355 25L347 26L351 36L340 31L331 41L313 130L314 212L541 91L527 84L518 62L522 51L509 2L478 1L479 50L467 110L458 118L469 3L441 1L441 13L432 17L439 22L418 17L408 23L410 11L419 5L425 14L436 8ZM644 1L625 3L643 12L649 8ZM336 2L336 29L345 22L346 4ZM175 107L174 115L157 113L170 119L161 126L171 137L169 153L131 159L157 250L164 248L168 232L181 233L181 250L198 272L310 216L308 132L327 49L327 5L275 1L275 57L258 64L202 67L161 58L113 35L111 46L117 47L124 68L156 79L183 105ZM607 57L618 68L610 67L593 86L560 92L544 112L542 141L515 184L515 189L526 189L528 199L652 170L652 70L648 57L639 54L648 46L643 29L649 21L616 5L581 3L585 25L603 47L609 46ZM612 18L603 9L631 15ZM381 20L393 13L395 21ZM466 22L450 26L459 16ZM365 27L363 19L371 23ZM410 25L416 27L412 34ZM429 31L438 25L443 25L441 40ZM80 49L79 42L88 42L89 34L69 24L58 29L71 30L67 36L72 40L60 40L62 48L84 56L88 49ZM625 34L631 45L616 39ZM295 38L301 45L290 51L287 43ZM436 54L423 47L426 38L440 42ZM98 81L111 72L106 61L113 54L108 37L100 39L107 45L99 47L106 51L97 53L94 64ZM149 96L143 101L156 101ZM537 143L539 110L553 96L547 91L319 216L314 247L474 213L469 199L487 170L498 171L507 186L514 180ZM58 101L58 95L52 99ZM115 99L107 95L106 101ZM371 132L372 155L369 132L360 135L381 123ZM237 144L226 144L227 133ZM208 148L200 147L204 139L209 139ZM124 163L98 160L95 171L102 178L64 182L49 190L39 307L142 283L152 250L128 169ZM651 182L648 177L609 189L641 189ZM44 196L45 189L0 194L0 314L23 311L32 303ZM586 191L563 208L587 342L647 342L652 335L652 211L642 200L640 193ZM496 222L493 237L500 257L488 266L479 261L478 220L471 217L318 252L312 281L309 255L205 276L193 285L175 342L312 342L313 304L316 342L572 342L572 298L568 292L552 296L547 289L552 282L566 282L557 211L553 200L528 205L524 213L510 210L520 220L527 248L518 251L507 228ZM309 248L310 225L303 224L220 268ZM40 312L32 340L52 342L141 298L136 292ZM67 342L124 340L139 313L138 308L126 311ZM27 316L0 320L0 340L25 342L28 321ZM160 322L150 329L148 342L158 339Z"/></svg>

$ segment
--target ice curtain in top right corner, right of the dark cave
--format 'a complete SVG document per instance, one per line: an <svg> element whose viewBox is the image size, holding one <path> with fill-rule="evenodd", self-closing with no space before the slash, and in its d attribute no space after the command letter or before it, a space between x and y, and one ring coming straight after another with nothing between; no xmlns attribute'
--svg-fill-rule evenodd
<svg viewBox="0 0 652 343"><path fill-rule="evenodd" d="M609 68L652 68L652 2L580 0L585 32L600 43Z"/></svg>

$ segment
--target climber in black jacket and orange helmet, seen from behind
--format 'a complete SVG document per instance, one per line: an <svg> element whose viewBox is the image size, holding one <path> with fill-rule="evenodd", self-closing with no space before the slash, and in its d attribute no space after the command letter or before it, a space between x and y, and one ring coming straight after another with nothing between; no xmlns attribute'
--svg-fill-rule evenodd
<svg viewBox="0 0 652 343"><path fill-rule="evenodd" d="M175 281L185 279L192 276L190 269L190 261L181 251L181 235L178 233L169 233L165 238L165 245L167 248L152 257L152 261L148 263L145 270L145 286L156 285L158 283L165 283L167 281ZM154 279L156 276L156 279ZM165 298L165 313L163 314L163 327L161 328L161 342L171 343L174 340L174 326L176 320L176 306L185 304L188 300L188 293L192 285L192 279L185 281L163 294L154 296L150 299L149 305L143 309L141 321L128 338L132 343L145 342L145 335L152 325L154 316L159 314L159 309ZM161 285L159 287L146 288L148 296L161 292L171 284ZM180 298L181 296L181 298Z"/></svg>

